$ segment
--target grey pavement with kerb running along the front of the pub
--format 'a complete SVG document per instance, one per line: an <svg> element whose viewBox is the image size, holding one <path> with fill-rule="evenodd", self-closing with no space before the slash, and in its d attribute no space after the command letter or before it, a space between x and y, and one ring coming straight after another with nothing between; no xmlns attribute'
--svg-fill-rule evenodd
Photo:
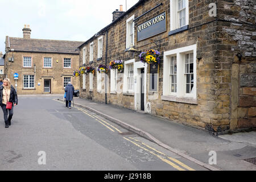
<svg viewBox="0 0 256 182"><path fill-rule="evenodd" d="M57 100L64 101L63 97L58 97ZM256 171L255 131L216 136L176 121L112 104L106 105L78 97L74 98L74 103L76 107L101 115L209 170ZM214 156L216 164L210 164L214 162ZM250 162L247 159L251 159Z"/></svg>

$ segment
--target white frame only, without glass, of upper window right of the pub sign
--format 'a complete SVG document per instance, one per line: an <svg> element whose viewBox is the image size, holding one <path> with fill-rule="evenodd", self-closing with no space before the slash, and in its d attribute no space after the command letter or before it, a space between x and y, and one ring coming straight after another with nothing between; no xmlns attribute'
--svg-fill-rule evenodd
<svg viewBox="0 0 256 182"><path fill-rule="evenodd" d="M188 20L189 20L189 9L188 9L188 0L184 0L186 5L185 5L185 24L184 26L188 25ZM178 15L178 6L179 6L179 0L170 0L170 30L175 30L180 27L179 24L179 15Z"/></svg>

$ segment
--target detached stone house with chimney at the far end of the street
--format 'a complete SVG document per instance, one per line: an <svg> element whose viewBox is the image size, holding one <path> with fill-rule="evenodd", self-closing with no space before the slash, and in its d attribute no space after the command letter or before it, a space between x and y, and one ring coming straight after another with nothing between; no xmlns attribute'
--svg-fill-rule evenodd
<svg viewBox="0 0 256 182"><path fill-rule="evenodd" d="M25 25L23 38L6 36L5 77L17 93L64 94L69 81L79 89L73 69L79 66L77 47L83 42L31 39L30 35L30 26ZM14 73L18 73L17 80Z"/></svg>

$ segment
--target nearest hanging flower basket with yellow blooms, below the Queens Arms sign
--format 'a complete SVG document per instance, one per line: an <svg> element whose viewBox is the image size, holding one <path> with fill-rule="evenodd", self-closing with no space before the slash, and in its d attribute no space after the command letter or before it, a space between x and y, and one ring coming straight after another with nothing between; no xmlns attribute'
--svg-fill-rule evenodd
<svg viewBox="0 0 256 182"><path fill-rule="evenodd" d="M160 64L159 56L160 56L160 52L151 49L147 52L142 52L139 55L139 59L141 59L142 63L147 63L147 64L158 63L158 64Z"/></svg>

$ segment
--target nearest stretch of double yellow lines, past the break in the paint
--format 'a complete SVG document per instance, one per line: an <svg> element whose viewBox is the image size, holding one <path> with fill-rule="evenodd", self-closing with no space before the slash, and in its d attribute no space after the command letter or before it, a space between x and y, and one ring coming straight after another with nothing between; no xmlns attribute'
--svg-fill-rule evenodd
<svg viewBox="0 0 256 182"><path fill-rule="evenodd" d="M139 141L139 140L137 140L137 139L134 139L134 138L131 138L131 137L129 137L130 139L128 139L128 138L126 138L126 137L123 137L123 138L126 139L126 140L128 140L129 142L135 144L135 146L138 146L138 147L142 148L143 150L146 150L146 151L150 152L150 154L153 154L153 155L157 156L157 157L158 157L159 159L161 159L163 162L166 162L167 164L171 165L172 167L174 167L175 169L177 169L177 170L179 170L179 171L186 171L186 169L189 170L189 171L195 171L195 169L193 169L193 168L187 166L187 165L184 164L184 163L181 163L179 160L174 159L174 158L171 158L171 157L169 157L169 156L163 154L163 152L160 152L160 151L156 150L155 148L152 148L152 147L148 146L147 144L145 144L145 143L143 143L143 142L141 142L141 141ZM157 152L158 154L164 156L164 158L163 158L162 156L158 155L158 154L155 154L155 152L152 152L152 151L148 150L147 148L142 147L141 145L139 145L138 143L135 143L135 142L132 141L132 140L134 140L135 142L141 142L144 146L146 146L146 147L150 148L151 150ZM170 160L168 160L168 159L166 159L166 158L168 158L168 159L170 159ZM175 164L174 162L175 162L176 164ZM181 167L183 167L183 168L181 168Z"/></svg>

